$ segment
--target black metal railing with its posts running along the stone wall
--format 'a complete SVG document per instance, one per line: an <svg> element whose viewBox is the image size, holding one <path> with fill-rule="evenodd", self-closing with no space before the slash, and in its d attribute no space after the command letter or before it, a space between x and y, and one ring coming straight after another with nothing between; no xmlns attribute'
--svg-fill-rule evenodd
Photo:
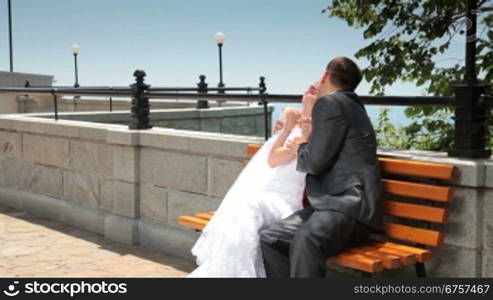
<svg viewBox="0 0 493 300"><path fill-rule="evenodd" d="M55 120L58 120L58 97L64 95L109 97L109 109L112 111L112 97L130 97L130 129L149 129L149 99L197 100L197 108L209 108L208 100L257 102L264 110L265 138L270 135L268 104L300 103L300 94L268 94L265 78L260 77L258 87L208 87L205 76L199 76L200 82L194 87L151 87L144 83L145 72L136 70L135 83L130 86L88 86L88 87L31 87L26 81L25 87L3 87L0 93L50 94L54 101ZM449 152L451 156L484 158L491 152L484 149L487 132L487 109L493 108L493 96L487 95L487 86L460 83L453 86L454 96L360 96L363 104L384 106L445 106L454 109L455 146ZM226 93L228 92L228 93ZM245 92L245 93L238 93ZM252 93L258 92L258 93ZM76 98L74 98L75 100ZM473 138L474 137L474 138ZM471 144L468 141L473 140ZM455 147L454 146L454 147Z"/></svg>

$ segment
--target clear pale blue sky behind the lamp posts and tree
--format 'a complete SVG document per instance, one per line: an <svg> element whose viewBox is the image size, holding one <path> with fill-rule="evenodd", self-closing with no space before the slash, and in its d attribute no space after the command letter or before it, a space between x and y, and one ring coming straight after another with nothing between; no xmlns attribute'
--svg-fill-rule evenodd
<svg viewBox="0 0 493 300"><path fill-rule="evenodd" d="M2 70L9 67L6 2L0 1ZM200 74L216 85L213 35L222 31L226 85L257 85L264 75L270 93L301 93L330 58L353 57L368 43L360 31L321 14L329 0L12 2L15 71L51 74L57 85L73 84L73 43L81 46L81 85L128 85L136 68L147 72L151 85L190 86ZM461 57L463 44L452 46ZM365 61L358 63L365 67ZM368 91L366 82L358 88L360 94ZM397 83L387 94L421 90Z"/></svg>

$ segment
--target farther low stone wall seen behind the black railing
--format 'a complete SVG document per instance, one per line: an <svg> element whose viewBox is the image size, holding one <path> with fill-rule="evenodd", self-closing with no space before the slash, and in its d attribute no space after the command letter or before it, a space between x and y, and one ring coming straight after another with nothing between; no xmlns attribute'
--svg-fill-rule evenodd
<svg viewBox="0 0 493 300"><path fill-rule="evenodd" d="M269 106L269 124L271 124L273 110L274 108ZM53 118L52 113L38 116ZM61 113L59 114L59 118L64 120L127 125L130 120L130 113L127 108L125 111L115 112ZM209 109L155 109L152 107L151 124L155 127L173 129L264 136L264 111L263 107L257 105Z"/></svg>

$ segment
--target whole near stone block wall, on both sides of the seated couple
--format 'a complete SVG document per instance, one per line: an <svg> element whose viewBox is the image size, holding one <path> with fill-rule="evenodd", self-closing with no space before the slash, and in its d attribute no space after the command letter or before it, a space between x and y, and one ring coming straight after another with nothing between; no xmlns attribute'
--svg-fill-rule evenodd
<svg viewBox="0 0 493 300"><path fill-rule="evenodd" d="M190 257L198 237L182 214L216 209L262 139L28 116L0 116L0 203L104 235ZM436 277L493 276L493 161L424 151L381 152L454 164L458 177ZM414 276L409 266L397 274Z"/></svg>

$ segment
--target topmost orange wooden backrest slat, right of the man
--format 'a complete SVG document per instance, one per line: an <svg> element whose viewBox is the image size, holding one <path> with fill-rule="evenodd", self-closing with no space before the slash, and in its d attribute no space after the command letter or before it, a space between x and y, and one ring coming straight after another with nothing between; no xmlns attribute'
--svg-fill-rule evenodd
<svg viewBox="0 0 493 300"><path fill-rule="evenodd" d="M382 172L435 179L452 179L454 166L422 161L407 161L380 157Z"/></svg>

